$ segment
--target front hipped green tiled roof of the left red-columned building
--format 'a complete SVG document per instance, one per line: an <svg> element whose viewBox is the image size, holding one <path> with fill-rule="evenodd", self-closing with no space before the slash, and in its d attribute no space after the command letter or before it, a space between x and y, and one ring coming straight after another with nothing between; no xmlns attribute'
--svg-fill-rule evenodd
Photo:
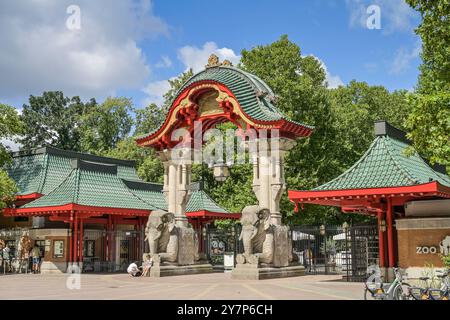
<svg viewBox="0 0 450 320"><path fill-rule="evenodd" d="M116 167L84 161L76 164L66 179L49 194L22 208L62 206L69 203L108 208L156 209L128 189L117 175Z"/></svg>

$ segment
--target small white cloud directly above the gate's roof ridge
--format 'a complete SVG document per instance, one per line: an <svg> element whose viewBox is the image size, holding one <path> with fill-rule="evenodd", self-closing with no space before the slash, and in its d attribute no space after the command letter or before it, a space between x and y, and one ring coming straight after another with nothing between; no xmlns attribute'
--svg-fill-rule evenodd
<svg viewBox="0 0 450 320"><path fill-rule="evenodd" d="M232 49L219 48L215 42L206 42L201 48L196 46L184 46L178 50L178 59L186 66L186 69L192 68L199 72L205 68L209 56L214 53L221 61L227 59L234 65L241 59Z"/></svg>

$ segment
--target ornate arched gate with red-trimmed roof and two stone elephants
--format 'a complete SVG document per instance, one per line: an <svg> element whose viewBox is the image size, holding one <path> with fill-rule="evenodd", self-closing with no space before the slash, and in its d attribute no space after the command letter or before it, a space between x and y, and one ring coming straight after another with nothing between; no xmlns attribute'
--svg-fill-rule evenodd
<svg viewBox="0 0 450 320"><path fill-rule="evenodd" d="M288 119L276 104L277 97L263 80L211 55L205 70L176 93L162 125L136 139L139 146L155 149L164 166L163 192L173 221L167 222L170 235L161 237L174 237L174 242L178 237L178 247L170 246L178 252L176 259L166 258L172 255L159 240L152 245L149 253L156 261L152 276L212 271L210 264L201 262L203 255L196 254L195 233L188 227L192 165L206 163L220 182L229 176L230 167L245 161L253 166L257 204L243 211L244 252L236 257L232 277L263 279L303 273L303 267L292 260L280 199L286 190L284 158L296 140L309 137L314 128ZM225 122L232 129L224 135L225 129L217 126Z"/></svg>

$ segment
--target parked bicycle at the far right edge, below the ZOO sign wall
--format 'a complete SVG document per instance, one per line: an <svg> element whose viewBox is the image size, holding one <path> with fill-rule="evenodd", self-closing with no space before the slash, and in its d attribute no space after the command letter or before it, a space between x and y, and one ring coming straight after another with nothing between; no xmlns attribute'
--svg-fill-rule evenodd
<svg viewBox="0 0 450 320"><path fill-rule="evenodd" d="M439 289L432 288L428 285L430 277L420 277L419 279L426 283L426 287L411 287L409 288L408 298L410 300L449 300L450 299L450 279L449 270L436 271L442 273L437 275L441 278L441 285Z"/></svg>

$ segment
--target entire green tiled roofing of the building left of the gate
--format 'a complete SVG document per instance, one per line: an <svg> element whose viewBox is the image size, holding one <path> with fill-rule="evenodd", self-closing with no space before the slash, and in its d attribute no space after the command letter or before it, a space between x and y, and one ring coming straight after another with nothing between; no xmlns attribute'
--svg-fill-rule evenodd
<svg viewBox="0 0 450 320"><path fill-rule="evenodd" d="M162 186L140 180L133 161L45 147L14 154L7 171L19 187L18 194L44 195L23 208L75 203L95 207L167 210ZM228 213L203 190L197 189L191 194L188 212Z"/></svg>

